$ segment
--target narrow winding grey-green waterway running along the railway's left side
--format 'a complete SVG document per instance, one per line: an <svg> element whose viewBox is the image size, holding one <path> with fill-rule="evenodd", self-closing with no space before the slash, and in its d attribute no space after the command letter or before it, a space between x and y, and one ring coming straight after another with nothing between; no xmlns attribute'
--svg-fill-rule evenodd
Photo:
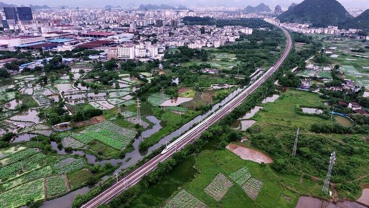
<svg viewBox="0 0 369 208"><path fill-rule="evenodd" d="M228 95L224 100L222 100L221 102L219 102L218 104L215 104L212 106L212 108L207 111L206 113L199 115L197 117L195 117L194 119L192 119L190 122L186 123L184 126L182 126L180 129L175 130L173 132L171 132L170 134L168 134L167 136L163 137L157 144L151 146L146 152L140 152L138 150L138 145L139 143L145 139L150 137L152 134L154 134L155 132L157 132L158 130L160 130L162 127L160 126L160 120L158 120L155 116L147 116L146 118L151 122L154 123L154 126L152 127L152 129L149 130L145 130L142 131L140 136L138 136L133 143L133 147L134 150L130 153L127 153L126 156L122 159L108 159L108 160L102 160L102 161L98 161L96 156L92 156L92 155L86 155L87 161L90 164L101 164L104 165L107 162L110 162L113 165L117 165L119 162L121 162L121 165L114 171L114 173L111 173L109 175L113 175L115 173L119 173L121 172L123 169L126 169L130 166L132 166L133 164L135 164L136 162L138 162L139 160L141 160L144 156L148 156L150 155L153 151L157 150L159 147L161 147L162 145L165 145L167 142L170 142L173 138L180 136L182 133L184 133L185 131L189 130L192 128L192 126L200 121L202 121L203 119L205 119L206 117L208 117L209 115L211 115L211 113L213 113L216 109L218 109L219 107L223 106L224 104L228 103L230 100L232 100L234 97L236 97L240 92L242 92L242 90L245 89L245 86L241 86L239 88L237 88L237 90L235 90L234 92L232 92L230 95ZM63 149L58 149L57 148L57 144L56 143L52 143L53 149L56 150L59 154L66 154L66 152ZM73 151L72 154L82 154L84 155L84 153L82 151ZM131 159L129 161L126 161L127 158L131 157ZM103 178L106 179L109 175L105 176ZM82 187L76 191L73 191L71 193L68 193L62 197L50 200L50 201L46 201L44 203L44 205L42 207L44 208L67 208L71 205L71 203L73 202L75 196L78 193L85 193L87 192L88 187ZM62 203L60 203L62 202Z"/></svg>

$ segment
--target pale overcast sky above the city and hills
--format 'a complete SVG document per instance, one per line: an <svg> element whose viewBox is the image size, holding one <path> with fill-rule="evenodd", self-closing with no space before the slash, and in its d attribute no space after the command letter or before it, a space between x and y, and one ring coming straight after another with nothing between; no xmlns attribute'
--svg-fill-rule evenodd
<svg viewBox="0 0 369 208"><path fill-rule="evenodd" d="M303 0L2 0L4 3L12 4L33 4L33 5L49 5L49 6L91 6L91 7L103 7L105 5L120 5L125 6L138 6L139 4L169 4L178 6L182 5L219 5L225 4L227 6L244 6L252 5L256 6L261 2L269 5L270 8L274 8L277 4L282 7L288 7L292 2L299 3ZM346 8L369 8L369 0L338 0Z"/></svg>

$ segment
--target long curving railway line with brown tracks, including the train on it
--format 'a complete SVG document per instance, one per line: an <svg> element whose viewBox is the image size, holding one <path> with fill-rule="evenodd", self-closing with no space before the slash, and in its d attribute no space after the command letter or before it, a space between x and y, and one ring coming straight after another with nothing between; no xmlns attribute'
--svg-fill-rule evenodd
<svg viewBox="0 0 369 208"><path fill-rule="evenodd" d="M191 130L187 131L180 138L178 138L175 142L171 144L173 148L167 148L168 150L165 151L164 154L159 154L158 156L155 156L151 160L147 161L145 164L143 164L136 170L132 171L130 174L125 176L119 182L114 183L111 187L101 192L95 198L93 198L86 204L82 205L81 208L96 208L101 204L108 203L111 199L121 194L127 188L139 182L143 176L154 170L157 167L158 163L163 162L167 158L171 157L177 150L184 148L185 145L191 143L194 139L196 139L199 135L201 135L203 131L209 128L209 126L219 121L221 118L223 118L233 109L235 109L239 104L241 104L248 95L253 93L261 84L264 83L264 81L267 78L269 78L274 72L276 72L283 63L283 61L287 58L291 50L292 41L289 32L282 27L280 28L286 34L287 46L282 56L278 59L277 63L273 67L271 67L261 78L259 78L253 84L251 84L248 88L242 91L239 95L237 95L234 99L225 104L219 110L215 111L203 122L192 128Z"/></svg>

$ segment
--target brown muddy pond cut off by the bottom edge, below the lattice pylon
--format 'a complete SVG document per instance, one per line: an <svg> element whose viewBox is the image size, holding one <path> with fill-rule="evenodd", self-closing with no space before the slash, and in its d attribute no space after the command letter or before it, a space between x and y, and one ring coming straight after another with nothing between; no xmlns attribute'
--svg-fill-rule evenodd
<svg viewBox="0 0 369 208"><path fill-rule="evenodd" d="M301 196L298 199L296 208L367 208L356 202L344 201L337 204L329 203L314 197Z"/></svg>

